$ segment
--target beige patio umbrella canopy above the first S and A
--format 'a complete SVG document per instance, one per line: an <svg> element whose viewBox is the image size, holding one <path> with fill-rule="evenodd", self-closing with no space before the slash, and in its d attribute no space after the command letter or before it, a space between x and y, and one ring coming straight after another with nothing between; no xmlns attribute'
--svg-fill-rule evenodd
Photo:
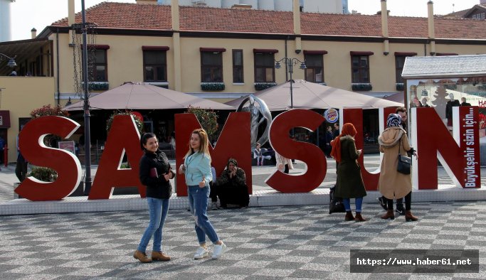
<svg viewBox="0 0 486 280"><path fill-rule="evenodd" d="M204 109L235 109L230 105L142 82L126 82L120 87L90 97L90 109L185 109L189 106ZM70 104L64 109L82 110L83 101Z"/></svg>

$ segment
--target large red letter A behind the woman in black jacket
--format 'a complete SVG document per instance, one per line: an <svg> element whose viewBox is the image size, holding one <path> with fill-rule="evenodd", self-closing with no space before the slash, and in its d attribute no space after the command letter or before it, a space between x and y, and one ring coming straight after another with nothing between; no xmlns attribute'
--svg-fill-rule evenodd
<svg viewBox="0 0 486 280"><path fill-rule="evenodd" d="M121 169L123 156L127 154L129 169ZM88 199L108 199L113 188L137 187L142 198L145 188L139 180L140 134L131 115L113 118L110 133L101 156L100 166Z"/></svg>

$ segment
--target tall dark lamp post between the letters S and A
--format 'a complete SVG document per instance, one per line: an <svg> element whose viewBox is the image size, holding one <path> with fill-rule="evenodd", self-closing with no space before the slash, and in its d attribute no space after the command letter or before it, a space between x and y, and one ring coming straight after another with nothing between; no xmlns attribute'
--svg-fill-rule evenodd
<svg viewBox="0 0 486 280"><path fill-rule="evenodd" d="M90 194L91 190L91 135L90 135L90 99L88 95L89 81L88 81L88 40L86 38L87 26L86 26L86 11L85 0L81 0L81 15L83 18L82 31L83 31L83 92L84 103L83 110L85 112L85 195Z"/></svg>

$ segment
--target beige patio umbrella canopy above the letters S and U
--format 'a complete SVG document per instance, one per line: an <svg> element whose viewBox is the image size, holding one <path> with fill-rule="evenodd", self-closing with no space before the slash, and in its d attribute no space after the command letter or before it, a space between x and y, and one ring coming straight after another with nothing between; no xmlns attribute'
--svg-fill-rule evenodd
<svg viewBox="0 0 486 280"><path fill-rule="evenodd" d="M290 81L260 92L255 92L254 95L263 99L270 111L290 109ZM398 102L362 95L356 92L349 92L335 87L327 87L305 80L294 80L292 83L292 96L294 104L293 108L300 109L373 109L403 106L403 104ZM245 99L245 97L226 102L225 104L238 107L243 99Z"/></svg>

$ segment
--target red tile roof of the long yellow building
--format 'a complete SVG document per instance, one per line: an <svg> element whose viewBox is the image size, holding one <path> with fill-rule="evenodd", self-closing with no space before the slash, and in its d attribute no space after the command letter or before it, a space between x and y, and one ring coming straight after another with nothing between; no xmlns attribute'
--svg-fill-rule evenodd
<svg viewBox="0 0 486 280"><path fill-rule="evenodd" d="M289 11L180 6L180 30L218 33L292 34ZM86 10L86 21L101 28L171 30L171 8L102 2ZM80 23L80 13L76 22ZM301 13L302 35L381 37L381 16ZM435 38L485 39L486 21L435 17ZM68 26L68 19L53 26ZM389 16L389 37L427 38L428 19Z"/></svg>

